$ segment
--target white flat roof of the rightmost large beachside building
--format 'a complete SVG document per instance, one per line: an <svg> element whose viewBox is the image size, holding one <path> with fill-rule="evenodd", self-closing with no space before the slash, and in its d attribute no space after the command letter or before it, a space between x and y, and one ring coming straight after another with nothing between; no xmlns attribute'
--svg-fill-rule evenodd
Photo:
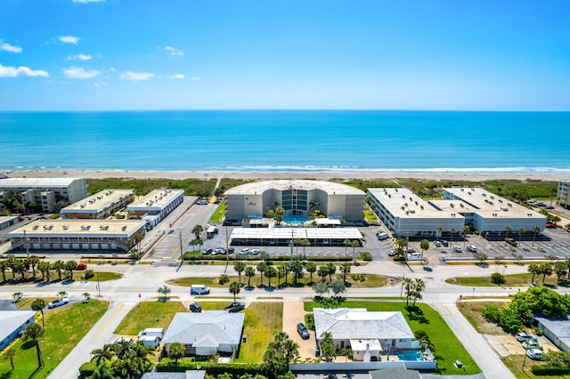
<svg viewBox="0 0 570 379"><path fill-rule="evenodd" d="M455 198L460 198L466 205L475 208L473 211L484 217L499 217L499 218L529 218L535 217L540 219L546 219L544 214L539 214L534 212L525 206L520 206L514 201L508 200L506 198L501 198L501 196L495 195L485 189L480 188L444 188L444 192L452 194ZM452 200L453 202L453 200ZM458 203L459 205L460 203ZM455 206L455 210L458 212L465 212L460 209L460 207Z"/></svg>

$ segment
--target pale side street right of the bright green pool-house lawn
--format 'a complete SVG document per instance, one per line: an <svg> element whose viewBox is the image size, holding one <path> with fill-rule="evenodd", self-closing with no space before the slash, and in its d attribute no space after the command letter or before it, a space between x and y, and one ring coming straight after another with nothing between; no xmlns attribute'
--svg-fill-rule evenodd
<svg viewBox="0 0 570 379"><path fill-rule="evenodd" d="M515 379L483 335L477 333L455 304L432 304L489 379Z"/></svg>

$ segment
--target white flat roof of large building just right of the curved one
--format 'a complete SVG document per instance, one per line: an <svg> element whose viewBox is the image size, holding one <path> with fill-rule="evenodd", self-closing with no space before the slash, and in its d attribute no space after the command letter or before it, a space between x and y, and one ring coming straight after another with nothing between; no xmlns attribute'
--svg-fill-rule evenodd
<svg viewBox="0 0 570 379"><path fill-rule="evenodd" d="M436 207L429 204L423 198L419 198L419 196L411 192L410 189L371 188L368 189L368 191L395 217L422 219L463 217L460 214L456 214L456 212L437 210ZM459 212L459 210L456 211ZM455 216L452 214L455 214Z"/></svg>

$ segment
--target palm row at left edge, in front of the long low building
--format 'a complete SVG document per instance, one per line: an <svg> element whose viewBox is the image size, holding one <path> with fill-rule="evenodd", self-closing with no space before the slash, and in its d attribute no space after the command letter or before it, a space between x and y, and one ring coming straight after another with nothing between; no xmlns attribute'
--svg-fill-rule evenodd
<svg viewBox="0 0 570 379"><path fill-rule="evenodd" d="M0 270L2 271L3 282L6 281L6 271L12 271L12 278L15 279L17 275L20 275L20 279L24 280L26 275L31 270L32 278L37 278L37 272L42 274L42 280L51 280L53 271L57 271L59 279L61 280L61 271L65 271L66 279L73 278L73 270L77 270L76 261L56 261L56 262L46 262L41 261L37 255L30 255L28 258L16 258L12 254L8 255L8 258L0 261Z"/></svg>

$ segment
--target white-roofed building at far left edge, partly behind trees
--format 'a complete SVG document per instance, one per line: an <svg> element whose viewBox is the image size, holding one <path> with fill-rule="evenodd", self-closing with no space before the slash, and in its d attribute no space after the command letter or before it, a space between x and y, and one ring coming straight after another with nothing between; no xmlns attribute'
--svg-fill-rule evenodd
<svg viewBox="0 0 570 379"><path fill-rule="evenodd" d="M63 206L87 197L85 178L5 178L0 179L0 207L10 194L18 193L20 203L36 203L44 212L56 212Z"/></svg>

